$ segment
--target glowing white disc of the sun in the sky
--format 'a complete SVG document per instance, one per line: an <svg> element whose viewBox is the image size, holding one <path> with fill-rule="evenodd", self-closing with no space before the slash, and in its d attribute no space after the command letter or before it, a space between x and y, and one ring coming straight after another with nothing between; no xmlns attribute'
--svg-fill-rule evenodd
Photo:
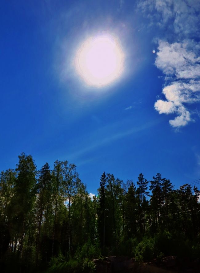
<svg viewBox="0 0 200 273"><path fill-rule="evenodd" d="M90 86L104 87L123 71L124 54L113 36L87 39L78 49L75 66L78 74Z"/></svg>

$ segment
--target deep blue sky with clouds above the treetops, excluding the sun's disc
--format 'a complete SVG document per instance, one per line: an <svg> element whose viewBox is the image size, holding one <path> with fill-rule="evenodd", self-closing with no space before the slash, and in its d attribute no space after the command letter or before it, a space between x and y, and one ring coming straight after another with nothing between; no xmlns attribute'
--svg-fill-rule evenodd
<svg viewBox="0 0 200 273"><path fill-rule="evenodd" d="M89 192L101 174L200 178L200 3L2 1L0 168L69 160ZM87 87L73 60L90 36L118 37L123 75ZM155 53L152 51L155 50Z"/></svg>

